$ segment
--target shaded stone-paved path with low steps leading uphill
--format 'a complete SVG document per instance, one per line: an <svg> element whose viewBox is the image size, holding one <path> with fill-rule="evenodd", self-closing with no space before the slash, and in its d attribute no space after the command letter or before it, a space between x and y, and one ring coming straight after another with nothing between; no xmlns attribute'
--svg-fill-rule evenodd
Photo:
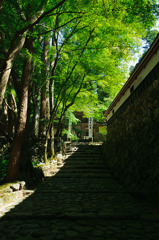
<svg viewBox="0 0 159 240"><path fill-rule="evenodd" d="M80 146L54 177L1 218L0 239L158 240L159 214L113 178L100 147Z"/></svg>

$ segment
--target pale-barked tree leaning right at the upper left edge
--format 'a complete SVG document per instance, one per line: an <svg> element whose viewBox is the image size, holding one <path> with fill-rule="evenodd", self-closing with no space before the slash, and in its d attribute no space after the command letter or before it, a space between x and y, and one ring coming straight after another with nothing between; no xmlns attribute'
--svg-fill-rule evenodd
<svg viewBox="0 0 159 240"><path fill-rule="evenodd" d="M44 17L50 14L52 11L57 9L61 6L66 0L62 0L61 2L57 3L54 7L44 12L45 7L47 5L47 0L34 2L34 4L30 5L29 2L22 5L18 1L16 2L18 7L16 11L22 17L22 23L26 21L25 26L21 29L17 29L14 33L12 41L10 43L10 47L5 55L5 59L1 66L1 74L0 74L0 108L2 106L2 101L4 97L4 93L6 90L6 86L8 83L8 79L10 76L10 72L14 63L15 58L20 53L21 49L24 46L24 42L26 39L27 31L33 28L36 24L38 24ZM23 8L24 7L24 8ZM21 24L22 24L21 23Z"/></svg>

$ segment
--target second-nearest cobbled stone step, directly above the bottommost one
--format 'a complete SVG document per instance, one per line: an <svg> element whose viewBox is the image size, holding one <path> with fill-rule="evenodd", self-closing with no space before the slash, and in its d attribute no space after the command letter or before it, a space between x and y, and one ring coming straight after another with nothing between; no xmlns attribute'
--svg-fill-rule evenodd
<svg viewBox="0 0 159 240"><path fill-rule="evenodd" d="M38 201L37 201L38 199ZM130 218L146 214L127 193L35 192L10 212L16 219L41 216Z"/></svg>

